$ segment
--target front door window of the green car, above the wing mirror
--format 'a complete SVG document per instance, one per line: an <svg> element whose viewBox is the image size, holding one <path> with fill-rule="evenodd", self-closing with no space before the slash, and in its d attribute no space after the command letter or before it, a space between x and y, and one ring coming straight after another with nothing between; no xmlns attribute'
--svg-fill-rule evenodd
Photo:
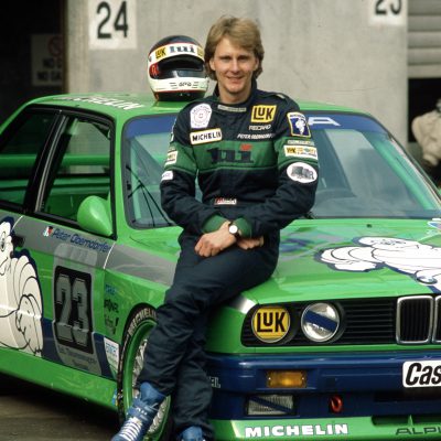
<svg viewBox="0 0 441 441"><path fill-rule="evenodd" d="M41 206L43 213L76 220L87 196L108 198L110 133L103 121L66 119Z"/></svg>

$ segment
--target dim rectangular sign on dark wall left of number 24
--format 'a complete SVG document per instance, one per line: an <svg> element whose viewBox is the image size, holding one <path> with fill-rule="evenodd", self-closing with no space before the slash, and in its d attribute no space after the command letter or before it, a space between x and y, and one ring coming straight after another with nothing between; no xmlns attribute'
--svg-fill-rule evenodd
<svg viewBox="0 0 441 441"><path fill-rule="evenodd" d="M63 42L60 34L31 35L32 86L62 86Z"/></svg>

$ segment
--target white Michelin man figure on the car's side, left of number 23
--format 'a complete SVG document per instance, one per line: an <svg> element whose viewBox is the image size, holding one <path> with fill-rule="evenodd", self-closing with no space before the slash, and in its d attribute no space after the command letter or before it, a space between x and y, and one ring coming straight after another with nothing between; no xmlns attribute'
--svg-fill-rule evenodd
<svg viewBox="0 0 441 441"><path fill-rule="evenodd" d="M42 299L29 257L12 257L11 224L0 224L0 347L41 356Z"/></svg>

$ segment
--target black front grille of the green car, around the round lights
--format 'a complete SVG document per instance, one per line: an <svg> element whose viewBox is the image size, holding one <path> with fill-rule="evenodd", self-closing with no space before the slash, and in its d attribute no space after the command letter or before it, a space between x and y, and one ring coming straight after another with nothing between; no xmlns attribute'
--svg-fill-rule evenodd
<svg viewBox="0 0 441 441"><path fill-rule="evenodd" d="M311 346L441 343L441 295L409 295L404 298L355 299L333 301L342 313L343 329L327 343L314 343L304 336L300 326L278 343L258 340L251 329L250 310L244 321L241 343L245 346ZM310 302L283 304L291 323L300 323Z"/></svg>

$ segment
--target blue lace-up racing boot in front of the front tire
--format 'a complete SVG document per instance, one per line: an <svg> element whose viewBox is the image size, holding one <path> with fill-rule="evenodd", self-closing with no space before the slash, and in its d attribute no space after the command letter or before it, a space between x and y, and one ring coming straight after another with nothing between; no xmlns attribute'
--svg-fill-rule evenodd
<svg viewBox="0 0 441 441"><path fill-rule="evenodd" d="M142 383L140 394L133 399L125 423L111 441L142 441L164 398L165 396L149 383Z"/></svg>

